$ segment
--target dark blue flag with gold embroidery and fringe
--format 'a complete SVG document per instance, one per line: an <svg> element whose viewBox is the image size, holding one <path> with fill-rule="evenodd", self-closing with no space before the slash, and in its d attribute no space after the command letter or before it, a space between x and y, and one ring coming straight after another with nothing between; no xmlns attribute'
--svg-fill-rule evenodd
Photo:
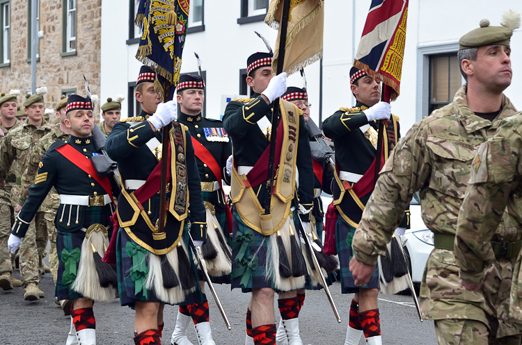
<svg viewBox="0 0 522 345"><path fill-rule="evenodd" d="M142 29L136 58L156 72L154 88L161 101L172 96L180 79L189 0L141 0L136 25ZM171 94L165 87L172 85Z"/></svg>

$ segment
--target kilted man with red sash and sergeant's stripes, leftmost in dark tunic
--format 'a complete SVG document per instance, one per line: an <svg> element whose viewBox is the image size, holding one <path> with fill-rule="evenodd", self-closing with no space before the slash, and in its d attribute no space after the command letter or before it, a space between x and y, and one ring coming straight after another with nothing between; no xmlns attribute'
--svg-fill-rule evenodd
<svg viewBox="0 0 522 345"><path fill-rule="evenodd" d="M94 301L111 301L116 292L110 285L100 285L95 267L95 255L104 254L112 233L109 218L114 210L112 190L116 184L99 176L90 159L85 159L102 154L93 141L90 98L70 96L66 112L65 125L71 135L52 144L38 163L29 196L11 230L9 249L15 252L40 205L55 187L60 195L55 221L59 260L56 297L74 300L67 344L95 344Z"/></svg>

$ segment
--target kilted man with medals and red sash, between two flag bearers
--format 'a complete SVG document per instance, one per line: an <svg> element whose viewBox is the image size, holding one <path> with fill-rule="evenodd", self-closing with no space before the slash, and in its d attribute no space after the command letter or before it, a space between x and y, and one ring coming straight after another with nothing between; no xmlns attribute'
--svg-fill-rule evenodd
<svg viewBox="0 0 522 345"><path fill-rule="evenodd" d="M180 104L177 121L187 126L191 133L207 215L207 241L201 248L203 259L214 283L230 283L232 251L227 244L230 240L227 221L230 209L223 194L221 180L223 176L228 177L224 168L232 153L232 142L221 121L202 116L205 101L205 81L202 76L180 76L176 91L177 103ZM203 272L198 272L198 276L201 291L204 292ZM180 306L171 344L192 345L187 339L187 328L191 321L196 326L198 341L201 344L214 344L209 324L209 307L206 296L204 298L203 303Z"/></svg>

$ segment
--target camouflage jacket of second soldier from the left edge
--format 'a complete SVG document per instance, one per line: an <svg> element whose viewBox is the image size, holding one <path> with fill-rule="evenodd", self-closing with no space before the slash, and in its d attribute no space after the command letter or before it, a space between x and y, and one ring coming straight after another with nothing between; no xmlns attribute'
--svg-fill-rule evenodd
<svg viewBox="0 0 522 345"><path fill-rule="evenodd" d="M40 127L25 121L22 126L9 131L0 144L0 180L14 174L17 185L22 183L22 174L29 163L31 148L49 131L51 127L47 121L43 121Z"/></svg>

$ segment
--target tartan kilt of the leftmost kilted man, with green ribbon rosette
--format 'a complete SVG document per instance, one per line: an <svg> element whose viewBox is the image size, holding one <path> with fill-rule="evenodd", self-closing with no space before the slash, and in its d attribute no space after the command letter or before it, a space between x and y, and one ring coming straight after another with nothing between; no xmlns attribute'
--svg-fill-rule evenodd
<svg viewBox="0 0 522 345"><path fill-rule="evenodd" d="M107 210L110 210L106 207L93 207L84 210L84 229L87 229L89 226L93 224L102 224L106 227L109 233L109 240L111 239L112 225L109 219L110 214L108 214ZM58 228L59 229L59 228ZM54 294L58 298L58 301L63 299L73 299L73 298L82 298L81 294L75 292L71 289L72 283L68 284L63 283L63 272L65 271L65 264L62 260L62 251L65 249L66 251L73 251L74 249L79 249L81 251L81 244L84 243L85 239L85 231L84 230L76 230L70 233L62 232L58 230L56 235L56 251L58 252L58 276L56 278L56 288ZM76 270L78 272L79 262L76 263Z"/></svg>

